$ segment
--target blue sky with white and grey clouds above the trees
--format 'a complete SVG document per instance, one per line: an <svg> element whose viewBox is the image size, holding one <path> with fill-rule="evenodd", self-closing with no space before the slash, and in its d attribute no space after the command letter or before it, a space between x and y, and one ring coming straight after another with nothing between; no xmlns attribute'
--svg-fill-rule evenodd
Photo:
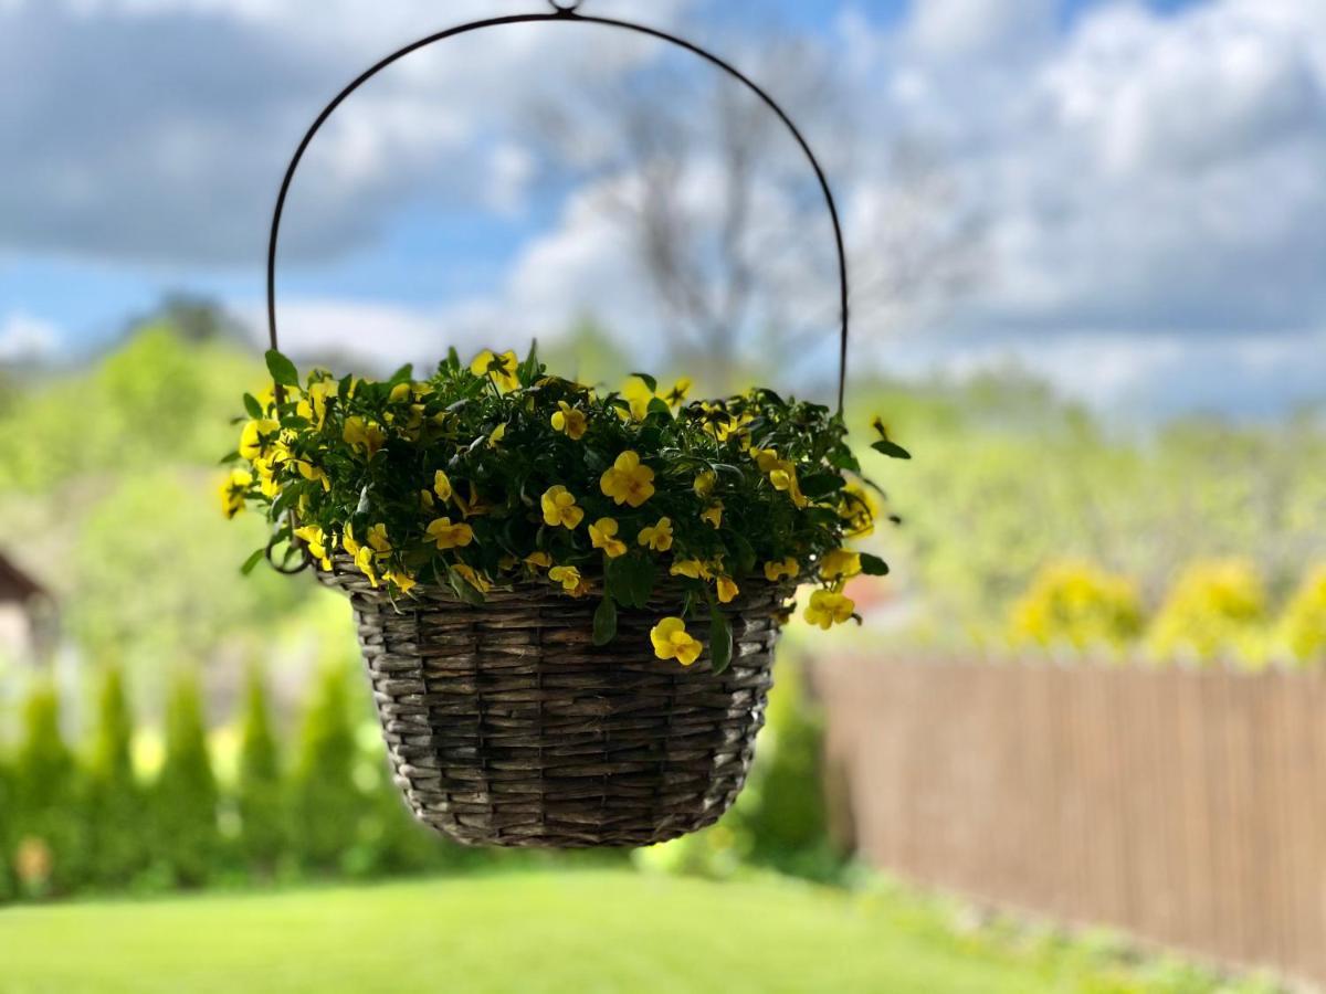
<svg viewBox="0 0 1326 994"><path fill-rule="evenodd" d="M256 325L271 204L322 103L420 34L540 8L0 0L0 360L76 355L167 290ZM1017 362L1103 410L1151 415L1273 415L1326 395L1326 0L585 11L762 69L825 148L858 284L916 262L894 298L862 296L854 366ZM549 122L558 94L602 110L667 57L585 25L487 34L399 64L318 137L282 231L293 350L332 339L424 359L451 337L552 337L589 313L629 342L663 333L599 208L631 183L594 154L607 118L578 114L574 143ZM769 57L789 40L798 66L833 77L825 113L797 91L805 73ZM919 195L899 193L904 144L935 163ZM686 195L703 207L720 184L693 175ZM777 197L761 217L822 240ZM914 247L960 224L971 272L935 289L927 268L952 250ZM797 294L831 317L831 285Z"/></svg>

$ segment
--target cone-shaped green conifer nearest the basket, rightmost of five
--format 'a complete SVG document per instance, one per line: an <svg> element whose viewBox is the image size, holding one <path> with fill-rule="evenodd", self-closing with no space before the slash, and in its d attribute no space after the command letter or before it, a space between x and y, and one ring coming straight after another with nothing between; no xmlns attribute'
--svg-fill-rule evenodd
<svg viewBox="0 0 1326 994"><path fill-rule="evenodd" d="M363 814L346 669L330 665L322 672L300 732L290 786L293 850L301 865L317 871L342 868Z"/></svg>

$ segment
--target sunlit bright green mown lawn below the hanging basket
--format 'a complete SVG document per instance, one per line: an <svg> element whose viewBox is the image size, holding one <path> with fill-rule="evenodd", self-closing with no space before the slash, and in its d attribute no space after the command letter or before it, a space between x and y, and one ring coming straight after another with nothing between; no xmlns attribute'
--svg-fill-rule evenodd
<svg viewBox="0 0 1326 994"><path fill-rule="evenodd" d="M1033 966L777 880L520 872L0 911L0 991L973 991Z"/></svg>

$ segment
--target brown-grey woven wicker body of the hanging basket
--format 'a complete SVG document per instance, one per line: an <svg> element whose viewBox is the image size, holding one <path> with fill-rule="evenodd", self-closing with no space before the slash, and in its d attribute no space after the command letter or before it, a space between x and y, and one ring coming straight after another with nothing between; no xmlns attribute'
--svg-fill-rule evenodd
<svg viewBox="0 0 1326 994"><path fill-rule="evenodd" d="M650 846L712 824L745 782L785 586L743 583L732 664L715 675L708 649L691 667L654 657L648 631L678 614L676 590L619 610L598 647L597 596L522 584L472 606L419 584L392 604L343 555L320 575L350 596L406 802L452 839Z"/></svg>

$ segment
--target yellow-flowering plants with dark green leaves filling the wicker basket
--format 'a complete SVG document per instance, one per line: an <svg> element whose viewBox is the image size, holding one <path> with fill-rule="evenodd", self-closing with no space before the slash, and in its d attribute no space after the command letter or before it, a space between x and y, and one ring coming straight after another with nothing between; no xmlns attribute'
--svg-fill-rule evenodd
<svg viewBox="0 0 1326 994"><path fill-rule="evenodd" d="M822 406L769 390L688 403L690 382L659 391L644 374L602 394L549 375L533 351L468 364L452 351L427 379L404 367L381 383L301 379L274 351L268 367L280 395L244 396L224 513L253 508L278 543L392 596L448 587L479 603L532 583L594 595L603 643L618 607L643 608L666 584L680 610L655 630L655 652L693 661L686 622L703 616L721 668L720 606L743 588L813 583L806 615L827 627L854 616L850 577L887 571L843 547L870 533L875 504ZM907 457L882 427L873 447Z"/></svg>

